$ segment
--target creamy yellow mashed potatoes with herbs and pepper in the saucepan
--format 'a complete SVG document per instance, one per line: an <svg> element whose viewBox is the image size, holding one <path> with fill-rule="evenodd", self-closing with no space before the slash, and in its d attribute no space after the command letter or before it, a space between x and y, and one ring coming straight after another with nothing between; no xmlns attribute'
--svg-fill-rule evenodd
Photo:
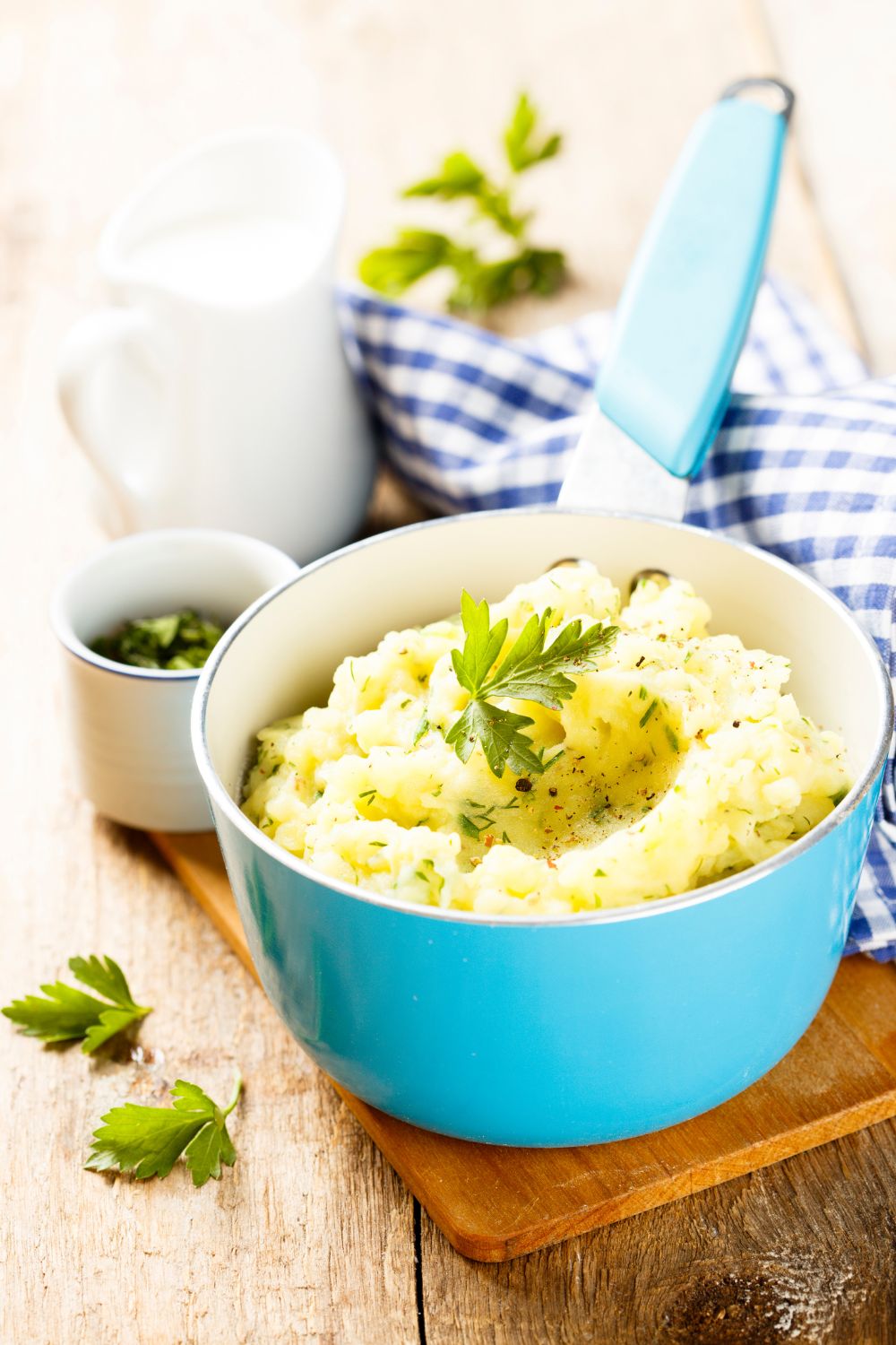
<svg viewBox="0 0 896 1345"><path fill-rule="evenodd" d="M707 635L681 580L623 605L592 565L562 566L492 607L505 650L533 612L619 628L557 710L528 714L544 773L497 779L445 742L469 701L450 651L459 619L394 631L345 659L326 706L259 733L244 811L322 873L400 901L556 915L686 892L766 859L849 787L844 745L801 716L790 664ZM562 751L560 751L562 749ZM556 755L559 753L559 755Z"/></svg>

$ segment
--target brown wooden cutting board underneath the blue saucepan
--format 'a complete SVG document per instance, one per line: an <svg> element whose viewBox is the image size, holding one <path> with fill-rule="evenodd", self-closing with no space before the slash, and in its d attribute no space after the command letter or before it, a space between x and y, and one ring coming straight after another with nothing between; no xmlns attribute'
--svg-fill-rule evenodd
<svg viewBox="0 0 896 1345"><path fill-rule="evenodd" d="M153 841L255 975L214 834ZM641 1139L498 1149L418 1130L333 1084L449 1241L509 1260L896 1115L896 968L849 958L814 1024L732 1102Z"/></svg>

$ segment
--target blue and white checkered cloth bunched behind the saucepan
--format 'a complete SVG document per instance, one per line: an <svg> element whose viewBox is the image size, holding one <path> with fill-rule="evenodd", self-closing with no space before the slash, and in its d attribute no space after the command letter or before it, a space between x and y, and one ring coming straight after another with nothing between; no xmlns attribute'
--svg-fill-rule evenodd
<svg viewBox="0 0 896 1345"><path fill-rule="evenodd" d="M610 315L509 342L465 323L340 295L356 378L398 476L439 512L556 500ZM896 671L896 379L869 381L809 301L766 280L686 521L743 538L838 594ZM893 756L848 952L896 959Z"/></svg>

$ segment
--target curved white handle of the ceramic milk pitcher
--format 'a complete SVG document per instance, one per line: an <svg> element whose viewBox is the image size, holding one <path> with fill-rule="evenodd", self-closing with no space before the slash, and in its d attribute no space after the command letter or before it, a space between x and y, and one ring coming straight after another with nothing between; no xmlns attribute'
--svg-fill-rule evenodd
<svg viewBox="0 0 896 1345"><path fill-rule="evenodd" d="M163 436L153 434L164 413L167 385L159 336L144 309L102 308L82 317L59 351L56 386L62 413L126 512L134 504L152 506L171 484L168 465L159 452ZM137 416L129 405L126 420L117 416L114 398L103 402L99 395L101 374L113 373L116 366L129 369L132 378L136 375L150 389L152 405L144 405Z"/></svg>

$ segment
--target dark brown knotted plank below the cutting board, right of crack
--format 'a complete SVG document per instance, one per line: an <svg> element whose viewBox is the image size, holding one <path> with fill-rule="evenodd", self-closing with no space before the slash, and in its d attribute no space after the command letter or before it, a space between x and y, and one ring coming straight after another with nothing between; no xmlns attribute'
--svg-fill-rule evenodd
<svg viewBox="0 0 896 1345"><path fill-rule="evenodd" d="M892 1345L892 1123L498 1266L423 1219L427 1345Z"/></svg>

